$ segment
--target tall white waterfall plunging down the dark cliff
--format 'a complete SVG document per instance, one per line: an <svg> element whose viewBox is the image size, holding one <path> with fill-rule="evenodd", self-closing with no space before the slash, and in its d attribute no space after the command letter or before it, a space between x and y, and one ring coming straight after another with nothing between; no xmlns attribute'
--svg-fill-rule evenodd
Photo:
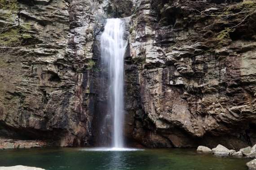
<svg viewBox="0 0 256 170"><path fill-rule="evenodd" d="M124 119L124 24L119 18L107 19L101 36L102 65L108 72L109 112L114 117L113 147L123 148Z"/></svg>

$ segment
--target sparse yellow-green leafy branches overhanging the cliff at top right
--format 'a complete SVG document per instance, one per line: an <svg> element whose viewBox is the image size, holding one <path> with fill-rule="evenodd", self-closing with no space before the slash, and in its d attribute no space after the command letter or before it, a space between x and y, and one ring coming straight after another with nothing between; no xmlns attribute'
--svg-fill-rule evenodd
<svg viewBox="0 0 256 170"><path fill-rule="evenodd" d="M256 14L256 1L243 0L241 2L232 2L223 0L218 8L214 0L174 0L169 1L174 8L181 8L185 11L197 13L198 18L211 17L214 21L205 26L205 29L213 26L220 26L220 31L216 32L216 38L221 42L230 37L238 26L245 24L252 15ZM217 30L215 28L215 30Z"/></svg>

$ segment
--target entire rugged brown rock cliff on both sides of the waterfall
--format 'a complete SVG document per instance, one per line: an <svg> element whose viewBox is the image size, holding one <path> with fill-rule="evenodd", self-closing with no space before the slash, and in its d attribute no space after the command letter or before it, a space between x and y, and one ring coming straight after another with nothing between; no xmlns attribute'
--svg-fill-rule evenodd
<svg viewBox="0 0 256 170"><path fill-rule="evenodd" d="M106 18L124 17L127 145L255 144L256 13L239 24L243 13L214 17L239 1L190 2L18 0L0 26L27 23L31 37L0 58L0 137L98 145L107 100L99 38Z"/></svg>

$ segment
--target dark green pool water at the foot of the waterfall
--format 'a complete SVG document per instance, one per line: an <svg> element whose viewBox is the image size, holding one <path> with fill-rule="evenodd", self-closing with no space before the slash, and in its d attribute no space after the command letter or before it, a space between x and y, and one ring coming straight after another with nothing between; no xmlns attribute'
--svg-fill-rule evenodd
<svg viewBox="0 0 256 170"><path fill-rule="evenodd" d="M0 166L46 170L246 170L247 158L217 157L196 149L94 151L86 148L0 150Z"/></svg>

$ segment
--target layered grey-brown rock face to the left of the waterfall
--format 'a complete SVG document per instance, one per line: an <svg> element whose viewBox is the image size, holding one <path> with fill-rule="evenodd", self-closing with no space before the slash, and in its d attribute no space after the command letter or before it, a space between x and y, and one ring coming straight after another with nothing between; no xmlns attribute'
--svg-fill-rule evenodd
<svg viewBox="0 0 256 170"><path fill-rule="evenodd" d="M1 55L0 137L90 145L100 88L94 40L110 9L121 12L106 0L18 0L17 6L9 29L28 24L31 38L17 54Z"/></svg>

